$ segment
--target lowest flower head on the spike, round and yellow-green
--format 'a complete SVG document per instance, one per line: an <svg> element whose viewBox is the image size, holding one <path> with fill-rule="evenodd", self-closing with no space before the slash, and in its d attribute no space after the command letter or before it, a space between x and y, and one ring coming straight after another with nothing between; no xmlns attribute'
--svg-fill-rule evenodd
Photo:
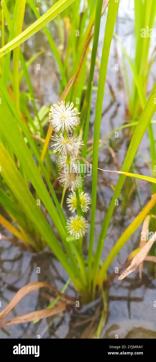
<svg viewBox="0 0 156 362"><path fill-rule="evenodd" d="M76 239L80 239L87 231L88 222L83 216L70 216L66 227L70 235L75 236Z"/></svg>

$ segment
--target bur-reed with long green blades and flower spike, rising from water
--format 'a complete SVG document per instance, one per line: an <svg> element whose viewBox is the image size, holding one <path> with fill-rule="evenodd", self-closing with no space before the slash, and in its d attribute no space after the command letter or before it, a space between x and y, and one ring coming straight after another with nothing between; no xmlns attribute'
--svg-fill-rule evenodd
<svg viewBox="0 0 156 362"><path fill-rule="evenodd" d="M146 1L144 3L147 5ZM149 129L151 135L150 139L153 137L150 127L152 124L151 119L156 111L156 84L146 100L142 85L139 83L144 72L143 64L140 64L140 68L138 66L137 72L134 72L134 113L131 112L132 124L135 124L136 127L102 225L96 252L93 254L102 104L119 1L91 0L84 3L81 12L80 5L79 0L54 1L54 5L41 16L40 9L35 6L33 0L27 2L25 0L16 0L14 6L10 6L7 1L1 1L0 203L3 210L5 210L5 215L0 215L0 223L32 251L37 252L44 248L46 244L49 245L52 252L64 266L75 288L82 295L84 302L88 302L101 293L102 282L106 278L111 261L140 223L143 222L156 202L156 195L154 195L121 235L104 264L101 264L101 253L107 227L113 214L114 201L122 190L126 176L138 177L155 184L155 178L129 173L129 170L147 129ZM135 12L137 13L136 6L135 2ZM150 6L152 22L152 10L155 10L155 4L150 1ZM106 7L106 26L94 121L93 162L90 166L92 167L92 197L90 200L85 192L85 173L81 171L80 165L84 166L87 163L86 159L87 155L89 155L87 142L93 74L101 16L105 13ZM33 13L37 20L22 31L25 12L29 12L31 15ZM51 35L53 29L51 28L51 20L55 21L55 26L58 29L59 47L55 44ZM65 32L62 31L63 26ZM38 110L28 69L35 59L41 55L42 51L37 52L26 61L22 44L40 30L45 34L49 42L49 49L58 65L60 100L57 104L52 104L51 108L50 106L42 106ZM78 30L79 36L76 37ZM137 29L135 29L136 31ZM93 46L88 71L88 51L92 39ZM11 51L13 51L13 59ZM137 64L139 64L139 55L136 58ZM21 70L19 69L19 62ZM52 69L47 70L49 74L52 71ZM145 74L144 84L147 80L147 72ZM23 77L25 77L28 88L26 94L21 92ZM86 82L87 90L83 96ZM33 110L31 109L31 111L28 107L28 97L32 103ZM77 99L79 102L77 102ZM143 110L140 114L138 113L140 117L136 121L139 100ZM130 108L131 110L132 108ZM45 134L45 126L47 126L48 120L50 124ZM49 149L50 142L51 151ZM51 161L51 152L56 154L56 169ZM57 168L60 173L58 180L63 186L61 202L59 202L53 188ZM66 190L70 190L71 193L66 195ZM71 214L75 212L68 220L63 211L65 199ZM83 236L88 228L87 219L90 203L90 236L88 258L85 258L83 255ZM47 221L46 213L49 214L52 220L51 225ZM87 215L86 218L84 213ZM8 222L8 217L12 222ZM102 265L101 268L100 265Z"/></svg>

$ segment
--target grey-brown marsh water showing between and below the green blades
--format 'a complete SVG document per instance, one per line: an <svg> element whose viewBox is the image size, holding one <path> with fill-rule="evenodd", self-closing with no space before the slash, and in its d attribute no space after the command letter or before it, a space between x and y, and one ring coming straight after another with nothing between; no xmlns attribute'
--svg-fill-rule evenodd
<svg viewBox="0 0 156 362"><path fill-rule="evenodd" d="M46 3L46 2L45 2ZM126 4L125 4L126 3ZM118 21L115 32L126 46L128 54L134 53L134 9L133 1L121 1L118 13ZM43 11L45 11L43 2ZM102 42L104 37L106 15L103 16L100 29L100 39L98 46L98 59L101 57ZM31 21L32 22L32 19ZM29 25L29 14L25 20L26 27ZM56 42L57 42L57 34ZM31 82L35 90L35 98L38 108L42 105L53 104L59 98L59 79L58 69L55 60L51 55L49 45L45 36L40 32L35 34L28 42L25 42L22 48L25 56L30 58L34 52L44 52L35 60L30 67ZM111 45L110 59L107 71L107 83L102 109L101 133L100 138L108 132L115 129L126 120L125 116L125 92L121 73L115 70L115 64L120 66L119 46L113 40ZM37 63L41 64L41 71L37 71ZM97 73L97 74L96 74ZM130 72L129 72L130 73ZM98 70L94 76L94 85L97 86ZM131 73L130 73L131 76ZM151 89L155 81L154 68L151 69L148 88ZM22 82L23 92L25 81ZM113 93L110 95L110 89ZM97 90L93 90L92 106L90 116L89 139L93 138L94 115L96 105ZM155 126L153 127L154 133ZM112 157L110 149L103 143L99 151L99 167L105 169L120 169L126 155L127 147L131 139L131 133L128 130L119 131L119 137L115 138L114 133L106 139L107 145L113 148L116 158ZM90 159L91 160L91 159ZM115 163L115 164L114 164ZM150 171L150 152L147 134L139 146L135 158L136 173L151 176ZM110 173L98 173L97 188L97 210L96 210L96 230L94 235L94 248L98 240L102 222L109 207L113 195L112 186L115 186L118 176ZM122 194L119 197L119 205L115 206L113 217L109 225L107 236L102 252L104 261L107 254L123 233L126 227L134 220L140 211L140 205L135 193L134 182L128 185L126 181ZM85 191L91 194L92 178L85 177ZM142 205L146 205L151 197L151 185L142 180L137 180L139 195ZM128 190L128 192L127 192ZM56 191L58 198L61 197L61 191ZM64 202L64 213L70 216L66 203ZM90 220L90 213L87 214ZM121 268L125 263L128 254L139 245L141 226L136 230L130 239L128 239L121 252L111 264L108 274L114 272L115 267ZM4 229L2 235L8 235ZM87 254L87 243L89 240L89 230L84 240L84 254ZM37 273L37 267L41 268L41 273ZM0 301L3 309L13 298L15 293L24 285L35 281L48 281L51 285L61 290L68 280L68 275L60 263L55 259L49 248L37 254L31 254L27 251L21 251L5 240L0 243ZM66 294L78 296L75 294L72 283L69 284ZM54 297L54 295L53 295ZM51 298L51 299L50 299ZM46 308L52 300L52 294L48 291L45 295L42 289L31 292L22 299L17 306L10 312L9 319L29 313L31 311ZM149 263L144 263L143 279L139 279L138 270L130 274L123 281L117 278L109 288L107 317L101 338L156 338L156 280L153 269L149 268ZM0 329L0 338L92 338L99 323L98 307L101 298L83 306L81 310L74 308L70 311L62 312L56 316L42 319L37 323L24 323ZM96 317L94 320L93 316ZM93 323L90 321L93 320Z"/></svg>

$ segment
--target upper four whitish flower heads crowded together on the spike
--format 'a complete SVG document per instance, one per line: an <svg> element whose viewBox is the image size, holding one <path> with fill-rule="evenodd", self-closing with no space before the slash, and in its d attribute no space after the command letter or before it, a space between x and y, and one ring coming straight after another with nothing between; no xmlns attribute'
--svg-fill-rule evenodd
<svg viewBox="0 0 156 362"><path fill-rule="evenodd" d="M79 111L73 103L58 102L50 108L49 122L55 134L52 135L51 147L57 153L56 163L60 169L60 184L71 191L82 186L83 180L78 172L78 156L83 147L81 139L73 134L79 124Z"/></svg>

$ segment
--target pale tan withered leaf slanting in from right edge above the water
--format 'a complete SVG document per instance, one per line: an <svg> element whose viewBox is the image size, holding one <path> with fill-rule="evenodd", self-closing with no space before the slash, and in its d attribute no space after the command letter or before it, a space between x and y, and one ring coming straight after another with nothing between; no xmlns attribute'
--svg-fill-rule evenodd
<svg viewBox="0 0 156 362"><path fill-rule="evenodd" d="M124 279L125 277L127 277L128 274L132 273L132 271L138 268L140 263L145 259L149 250L151 249L155 241L155 238L156 238L156 231L152 235L152 237L147 241L146 245L144 245L144 247L132 259L130 266L128 266L128 268L125 271L123 271L123 273L119 276L118 280Z"/></svg>

